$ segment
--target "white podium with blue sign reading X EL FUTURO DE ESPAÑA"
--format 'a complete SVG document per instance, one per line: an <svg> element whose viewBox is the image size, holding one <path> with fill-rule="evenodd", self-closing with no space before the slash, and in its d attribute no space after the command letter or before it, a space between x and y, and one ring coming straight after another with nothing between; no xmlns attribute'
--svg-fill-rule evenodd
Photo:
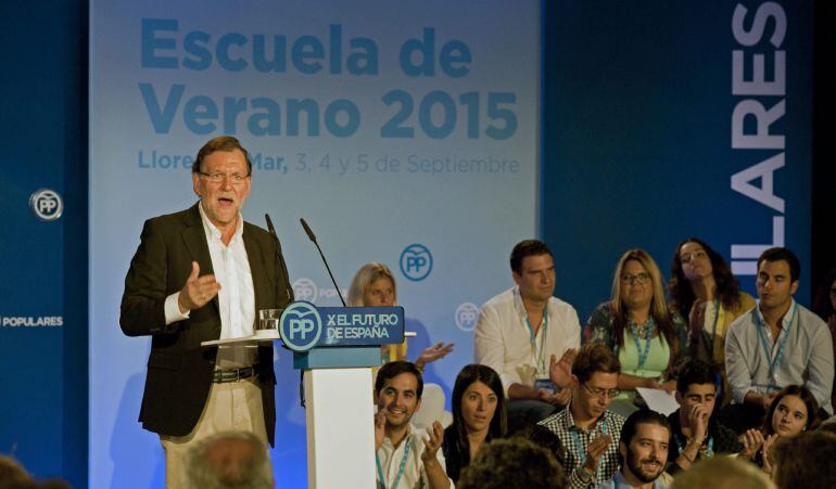
<svg viewBox="0 0 836 489"><path fill-rule="evenodd" d="M381 345L404 340L404 309L295 301L279 336L304 371L308 488L376 487L370 368Z"/></svg>

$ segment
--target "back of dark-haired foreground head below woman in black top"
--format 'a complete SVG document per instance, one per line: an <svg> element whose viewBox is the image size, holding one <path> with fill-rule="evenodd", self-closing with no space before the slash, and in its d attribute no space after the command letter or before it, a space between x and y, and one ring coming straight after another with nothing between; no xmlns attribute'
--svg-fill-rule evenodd
<svg viewBox="0 0 836 489"><path fill-rule="evenodd" d="M459 489L561 489L566 473L543 447L520 438L501 438L479 449L456 485Z"/></svg>

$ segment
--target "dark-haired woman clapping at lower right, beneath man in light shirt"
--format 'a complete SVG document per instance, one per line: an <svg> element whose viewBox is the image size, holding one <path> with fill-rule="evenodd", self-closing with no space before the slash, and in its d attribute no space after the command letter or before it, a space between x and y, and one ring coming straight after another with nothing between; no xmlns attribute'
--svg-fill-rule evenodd
<svg viewBox="0 0 836 489"><path fill-rule="evenodd" d="M768 474L772 473L772 447L778 439L795 438L819 426L819 402L807 387L789 385L781 389L770 404L763 427L744 435L739 455L751 459ZM760 435L760 436L759 436Z"/></svg>

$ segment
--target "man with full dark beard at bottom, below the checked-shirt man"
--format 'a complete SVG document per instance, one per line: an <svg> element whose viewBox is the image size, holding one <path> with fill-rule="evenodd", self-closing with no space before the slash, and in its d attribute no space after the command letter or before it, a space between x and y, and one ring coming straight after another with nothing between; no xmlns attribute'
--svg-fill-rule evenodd
<svg viewBox="0 0 836 489"><path fill-rule="evenodd" d="M647 409L631 414L619 440L621 469L596 489L666 489L671 484L664 472L670 437L671 427L663 415Z"/></svg>

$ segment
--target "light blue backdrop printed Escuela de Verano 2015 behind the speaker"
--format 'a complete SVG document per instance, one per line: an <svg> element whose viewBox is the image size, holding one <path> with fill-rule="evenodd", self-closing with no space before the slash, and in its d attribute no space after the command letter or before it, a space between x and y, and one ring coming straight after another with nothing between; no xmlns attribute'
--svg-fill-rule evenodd
<svg viewBox="0 0 836 489"><path fill-rule="evenodd" d="M243 215L271 215L297 298L338 304L304 217L342 287L371 260L394 271L411 359L456 343L427 370L449 395L474 308L536 232L540 26L535 1L93 2L93 486L162 485L159 440L137 423L150 342L123 336L118 304L143 220L195 202L191 158L220 133L252 153ZM282 487L302 487L299 375L277 359L271 456Z"/></svg>

